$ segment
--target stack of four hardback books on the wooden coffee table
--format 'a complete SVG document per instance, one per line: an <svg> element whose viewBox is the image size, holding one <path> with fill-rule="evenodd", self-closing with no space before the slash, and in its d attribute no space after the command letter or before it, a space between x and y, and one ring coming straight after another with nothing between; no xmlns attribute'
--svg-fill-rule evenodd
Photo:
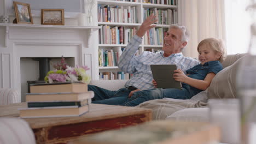
<svg viewBox="0 0 256 144"><path fill-rule="evenodd" d="M82 82L36 83L30 90L27 108L19 109L21 118L81 116L89 112L94 97Z"/></svg>

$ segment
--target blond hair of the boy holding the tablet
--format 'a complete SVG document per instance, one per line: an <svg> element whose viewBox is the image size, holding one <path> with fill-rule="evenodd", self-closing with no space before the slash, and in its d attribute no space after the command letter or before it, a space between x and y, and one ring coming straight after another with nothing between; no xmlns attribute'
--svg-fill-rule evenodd
<svg viewBox="0 0 256 144"><path fill-rule="evenodd" d="M202 41L197 46L197 51L199 51L199 47L202 46L203 44L208 44L211 49L215 52L220 53L220 58L219 61L223 62L226 56L226 50L225 46L223 44L223 41L221 39L214 39L214 38L207 38Z"/></svg>

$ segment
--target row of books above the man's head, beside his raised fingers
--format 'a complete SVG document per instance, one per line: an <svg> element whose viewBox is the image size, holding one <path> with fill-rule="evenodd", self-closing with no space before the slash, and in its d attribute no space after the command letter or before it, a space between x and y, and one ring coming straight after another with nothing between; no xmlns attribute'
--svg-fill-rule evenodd
<svg viewBox="0 0 256 144"><path fill-rule="evenodd" d="M157 16L158 21L156 24L160 25L170 25L171 23L177 23L176 17L177 17L177 10L176 9L157 9L157 8L143 8L143 17L144 20L147 19L147 17L151 14L154 14Z"/></svg>

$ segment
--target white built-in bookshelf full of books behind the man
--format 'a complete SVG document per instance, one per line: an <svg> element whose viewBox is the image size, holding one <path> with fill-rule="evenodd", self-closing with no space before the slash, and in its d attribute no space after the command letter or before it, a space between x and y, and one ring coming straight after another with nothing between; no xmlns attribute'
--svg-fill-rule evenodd
<svg viewBox="0 0 256 144"><path fill-rule="evenodd" d="M118 73L118 71L120 71L117 67L117 62L114 61L118 61L117 57L120 56L120 52L125 49L127 43L129 43L133 34L136 34L139 26L141 26L141 23L146 19L149 13L158 14L158 17L161 18L159 18L158 23L155 23L156 27L143 37L142 44L139 45L139 50L136 55L139 55L143 51L161 50L164 34L169 25L171 23L177 23L178 4L176 0L154 0L155 3L159 4L146 3L150 0L133 1L136 2L126 2L125 0L97 1L97 25L100 26L98 33L98 71L100 73L98 78L100 80L105 79L105 77L101 76L102 73ZM174 3L175 5L166 4L167 2ZM170 17L170 15L172 17L167 19L166 17ZM123 35L123 40L120 39L120 35ZM110 54L112 53L112 58L110 58L113 59L112 64L109 64L109 62L106 63L109 59L104 57L109 56L109 52ZM125 79L129 79L130 77L127 76L127 74L125 74L125 76Z"/></svg>

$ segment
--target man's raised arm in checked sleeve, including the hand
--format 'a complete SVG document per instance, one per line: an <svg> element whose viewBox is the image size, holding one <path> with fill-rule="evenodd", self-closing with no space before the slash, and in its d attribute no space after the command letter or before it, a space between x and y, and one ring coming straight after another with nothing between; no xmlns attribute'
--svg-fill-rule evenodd
<svg viewBox="0 0 256 144"><path fill-rule="evenodd" d="M119 58L118 68L125 73L134 73L136 59L134 58L136 51L138 50L139 44L142 42L143 35L148 31L148 29L155 27L152 25L156 22L156 16L150 15L139 27L136 35L131 39L130 43L127 44L125 50Z"/></svg>

